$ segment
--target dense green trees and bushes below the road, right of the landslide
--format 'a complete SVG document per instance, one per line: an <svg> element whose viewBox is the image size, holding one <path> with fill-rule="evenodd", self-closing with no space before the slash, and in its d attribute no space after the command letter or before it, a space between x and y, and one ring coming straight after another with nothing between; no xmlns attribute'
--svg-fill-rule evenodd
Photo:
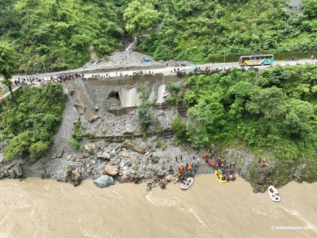
<svg viewBox="0 0 317 238"><path fill-rule="evenodd" d="M305 157L308 170L317 171L317 65L277 65L255 74L234 68L228 75L190 77L184 97L187 140L194 147L211 142L253 151L270 147L270 157L281 166ZM173 130L185 138L178 124L175 118ZM306 181L314 179L307 173Z"/></svg>

